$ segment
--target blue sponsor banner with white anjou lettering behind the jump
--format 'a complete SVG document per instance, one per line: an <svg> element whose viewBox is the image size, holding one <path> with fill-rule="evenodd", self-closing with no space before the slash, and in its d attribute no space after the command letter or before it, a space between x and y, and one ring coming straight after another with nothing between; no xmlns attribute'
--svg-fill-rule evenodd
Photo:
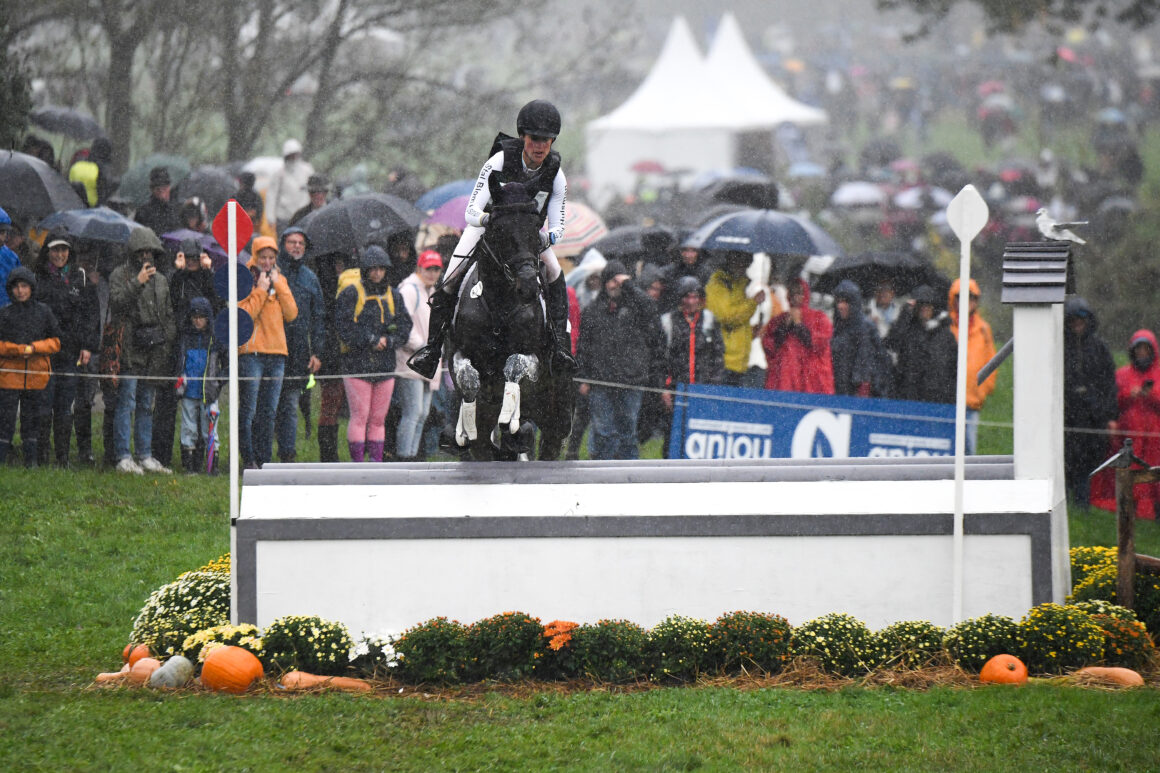
<svg viewBox="0 0 1160 773"><path fill-rule="evenodd" d="M673 458L949 456L955 406L682 384Z"/></svg>

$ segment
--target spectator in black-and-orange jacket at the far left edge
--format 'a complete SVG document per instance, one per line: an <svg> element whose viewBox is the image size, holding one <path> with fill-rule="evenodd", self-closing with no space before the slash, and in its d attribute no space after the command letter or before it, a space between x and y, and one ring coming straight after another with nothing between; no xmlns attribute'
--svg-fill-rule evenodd
<svg viewBox="0 0 1160 773"><path fill-rule="evenodd" d="M36 467L41 400L52 373L50 357L60 351L60 327L52 310L32 298L30 269L14 268L5 289L10 303L0 309L0 465L12 449L19 413L24 467Z"/></svg>

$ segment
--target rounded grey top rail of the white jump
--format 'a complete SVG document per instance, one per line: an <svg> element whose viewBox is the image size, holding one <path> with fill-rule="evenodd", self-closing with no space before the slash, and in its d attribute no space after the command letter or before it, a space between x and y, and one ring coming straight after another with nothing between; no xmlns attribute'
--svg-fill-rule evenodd
<svg viewBox="0 0 1160 773"><path fill-rule="evenodd" d="M1012 456L969 456L970 481L1014 478ZM633 460L616 462L396 462L266 464L246 470L253 485L478 485L534 483L710 483L804 481L949 481L954 457Z"/></svg>

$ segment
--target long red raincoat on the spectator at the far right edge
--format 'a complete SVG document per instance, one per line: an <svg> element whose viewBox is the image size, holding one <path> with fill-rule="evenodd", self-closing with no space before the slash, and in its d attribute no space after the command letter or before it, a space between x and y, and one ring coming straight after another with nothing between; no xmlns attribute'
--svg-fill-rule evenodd
<svg viewBox="0 0 1160 773"><path fill-rule="evenodd" d="M1132 453L1150 465L1160 465L1160 347L1150 330L1132 333L1129 352L1139 341L1152 346L1152 363L1144 370L1129 362L1116 371L1116 399L1119 403L1119 431L1114 435L1108 456L1123 446L1124 438L1132 439ZM1145 382L1152 388L1145 390ZM1133 395L1136 391L1138 393ZM1132 492L1136 497L1136 516L1155 520L1157 504L1160 503L1160 483L1140 483ZM1092 505L1102 510L1116 510L1116 474L1104 470L1092 481Z"/></svg>

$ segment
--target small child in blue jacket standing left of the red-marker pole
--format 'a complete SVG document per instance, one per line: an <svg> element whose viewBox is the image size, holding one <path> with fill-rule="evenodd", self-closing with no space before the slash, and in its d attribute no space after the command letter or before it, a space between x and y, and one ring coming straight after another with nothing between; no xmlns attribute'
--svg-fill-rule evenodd
<svg viewBox="0 0 1160 773"><path fill-rule="evenodd" d="M222 352L210 327L208 298L189 302L179 342L177 396L181 399L181 467L186 472L201 470L202 449L208 448L210 414L217 413L222 383Z"/></svg>

